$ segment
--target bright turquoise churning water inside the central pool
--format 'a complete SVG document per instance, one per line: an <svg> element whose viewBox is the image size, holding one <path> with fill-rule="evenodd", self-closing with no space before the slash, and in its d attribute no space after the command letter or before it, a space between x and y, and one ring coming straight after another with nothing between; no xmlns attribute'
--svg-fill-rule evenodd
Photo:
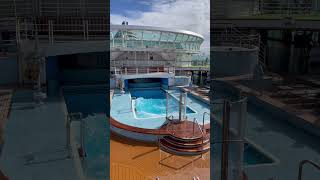
<svg viewBox="0 0 320 180"><path fill-rule="evenodd" d="M163 90L148 89L148 90L131 90L131 97L134 100L134 112L137 118L153 118L164 117L167 111L167 98ZM176 97L169 95L168 97L168 113L178 116L179 101ZM195 113L189 107L186 108L186 114Z"/></svg>

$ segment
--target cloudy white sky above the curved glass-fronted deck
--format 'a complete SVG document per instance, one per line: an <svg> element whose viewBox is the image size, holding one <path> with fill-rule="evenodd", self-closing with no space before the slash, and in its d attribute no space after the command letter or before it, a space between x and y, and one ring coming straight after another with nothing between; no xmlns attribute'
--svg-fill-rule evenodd
<svg viewBox="0 0 320 180"><path fill-rule="evenodd" d="M208 53L210 47L210 0L153 0L151 11L130 11L128 17L111 14L111 24L123 20L129 25L144 25L189 30L204 36L201 51Z"/></svg>

